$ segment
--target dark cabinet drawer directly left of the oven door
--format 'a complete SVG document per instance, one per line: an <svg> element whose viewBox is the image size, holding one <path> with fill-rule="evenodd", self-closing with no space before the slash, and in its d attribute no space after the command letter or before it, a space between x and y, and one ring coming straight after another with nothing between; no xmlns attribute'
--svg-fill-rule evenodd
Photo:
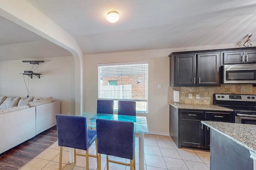
<svg viewBox="0 0 256 170"><path fill-rule="evenodd" d="M232 122L232 114L229 112L205 112L205 119L210 121Z"/></svg>

